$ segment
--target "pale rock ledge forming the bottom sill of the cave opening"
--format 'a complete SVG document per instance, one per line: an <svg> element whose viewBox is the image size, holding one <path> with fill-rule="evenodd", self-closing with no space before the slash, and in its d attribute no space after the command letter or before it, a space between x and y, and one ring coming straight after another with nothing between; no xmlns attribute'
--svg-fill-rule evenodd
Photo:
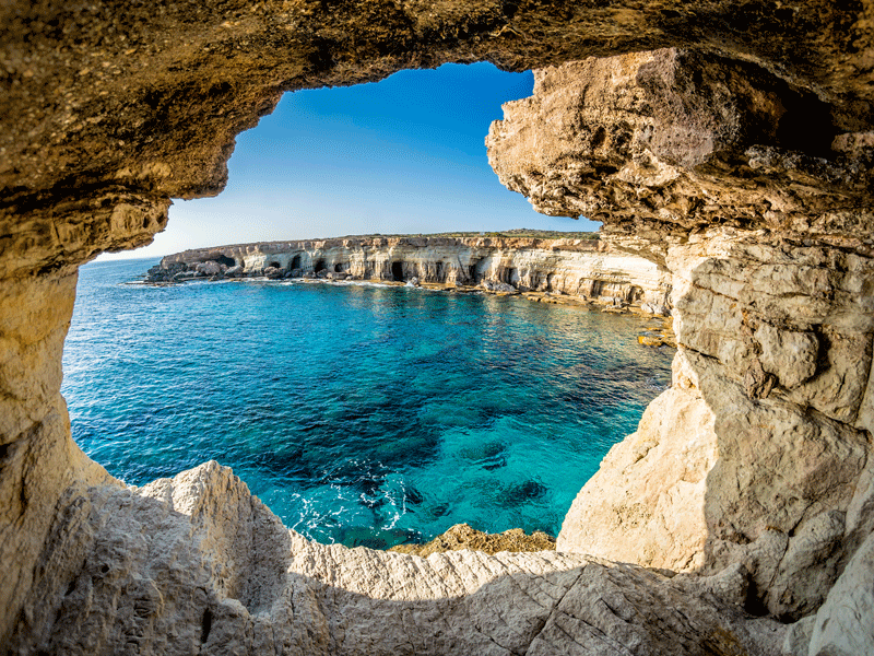
<svg viewBox="0 0 874 656"><path fill-rule="evenodd" d="M54 528L85 546L84 563L58 573L63 595L32 590L12 652L728 656L783 640L707 579L555 551L423 559L310 542L215 462L80 499L88 512Z"/></svg>

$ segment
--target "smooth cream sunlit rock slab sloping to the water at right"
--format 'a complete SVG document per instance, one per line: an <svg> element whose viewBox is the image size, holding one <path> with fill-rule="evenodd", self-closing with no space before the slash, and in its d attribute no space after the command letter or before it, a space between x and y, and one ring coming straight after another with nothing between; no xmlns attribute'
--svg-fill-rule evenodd
<svg viewBox="0 0 874 656"><path fill-rule="evenodd" d="M717 455L713 413L700 393L665 391L574 501L556 549L650 567L700 567L707 473Z"/></svg>

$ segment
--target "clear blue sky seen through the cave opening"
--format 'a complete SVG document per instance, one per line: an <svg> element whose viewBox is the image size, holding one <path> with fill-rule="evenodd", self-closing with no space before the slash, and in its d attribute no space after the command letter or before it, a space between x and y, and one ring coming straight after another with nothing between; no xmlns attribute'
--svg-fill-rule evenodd
<svg viewBox="0 0 874 656"><path fill-rule="evenodd" d="M533 75L492 65L401 71L381 82L287 93L237 137L225 190L174 201L151 246L102 259L186 248L354 234L597 230L538 214L488 166L501 103L531 95Z"/></svg>

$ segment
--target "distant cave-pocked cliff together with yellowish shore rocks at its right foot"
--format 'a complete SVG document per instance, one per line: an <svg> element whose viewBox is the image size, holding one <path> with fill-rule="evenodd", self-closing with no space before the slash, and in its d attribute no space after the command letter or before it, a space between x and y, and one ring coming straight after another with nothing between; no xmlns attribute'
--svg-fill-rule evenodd
<svg viewBox="0 0 874 656"><path fill-rule="evenodd" d="M244 279L520 295L535 303L650 318L638 342L676 347L670 276L643 258L606 248L592 233L379 235L218 246L168 255L149 269L144 282Z"/></svg>

